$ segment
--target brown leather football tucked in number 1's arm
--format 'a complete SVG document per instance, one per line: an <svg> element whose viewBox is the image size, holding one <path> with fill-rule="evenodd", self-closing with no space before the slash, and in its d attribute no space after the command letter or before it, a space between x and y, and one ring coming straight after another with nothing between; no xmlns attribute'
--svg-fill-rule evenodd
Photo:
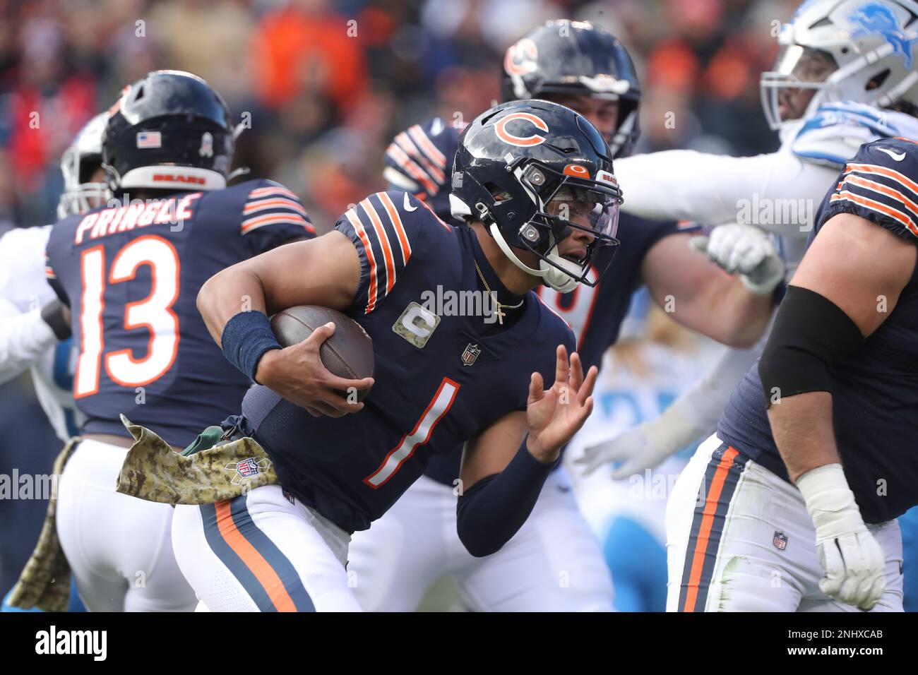
<svg viewBox="0 0 918 675"><path fill-rule="evenodd" d="M335 332L319 348L322 365L338 377L373 377L373 340L366 334L363 326L336 309L318 305L284 309L271 318L271 328L277 342L288 347L303 342L314 330L329 321L335 324ZM344 391L337 393L347 396ZM370 392L358 392L357 400L363 400L368 393Z"/></svg>

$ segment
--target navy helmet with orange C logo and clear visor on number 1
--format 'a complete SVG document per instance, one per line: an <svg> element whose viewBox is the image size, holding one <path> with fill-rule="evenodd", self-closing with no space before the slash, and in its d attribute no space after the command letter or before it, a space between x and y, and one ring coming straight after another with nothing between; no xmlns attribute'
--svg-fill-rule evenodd
<svg viewBox="0 0 918 675"><path fill-rule="evenodd" d="M459 137L450 196L453 217L478 219L509 259L566 293L588 278L600 246L618 246L621 190L609 146L588 120L549 101L511 101L479 115ZM586 254L563 257L558 244L587 231ZM535 253L538 268L513 249ZM609 256L611 262L612 256Z"/></svg>

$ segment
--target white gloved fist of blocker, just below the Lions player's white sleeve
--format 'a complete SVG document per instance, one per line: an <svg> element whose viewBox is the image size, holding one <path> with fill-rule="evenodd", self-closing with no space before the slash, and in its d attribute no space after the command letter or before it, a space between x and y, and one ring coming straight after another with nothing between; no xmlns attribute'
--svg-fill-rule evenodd
<svg viewBox="0 0 918 675"><path fill-rule="evenodd" d="M784 261L771 237L754 225L718 225L707 237L692 237L693 248L729 274L738 274L750 292L767 296L784 280Z"/></svg>

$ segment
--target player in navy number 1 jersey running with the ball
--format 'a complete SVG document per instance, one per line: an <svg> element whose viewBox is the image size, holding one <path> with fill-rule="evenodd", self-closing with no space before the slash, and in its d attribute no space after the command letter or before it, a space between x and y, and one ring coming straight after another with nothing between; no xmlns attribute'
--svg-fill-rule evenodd
<svg viewBox="0 0 918 675"><path fill-rule="evenodd" d="M532 289L582 282L617 245L621 194L606 142L569 108L503 104L465 129L452 186L467 225L443 222L408 193L377 193L334 231L202 288L214 339L260 383L224 426L263 449L278 482L176 507L176 557L208 609L359 610L344 568L350 534L396 503L431 456L464 445L455 527L473 556L494 553L586 420L596 368L585 375L572 332ZM503 316L420 305L438 287L496 296ZM241 296L252 311L240 312ZM280 348L266 314L304 304L363 326L374 378L341 379L321 365L330 326ZM371 385L359 403L333 392Z"/></svg>

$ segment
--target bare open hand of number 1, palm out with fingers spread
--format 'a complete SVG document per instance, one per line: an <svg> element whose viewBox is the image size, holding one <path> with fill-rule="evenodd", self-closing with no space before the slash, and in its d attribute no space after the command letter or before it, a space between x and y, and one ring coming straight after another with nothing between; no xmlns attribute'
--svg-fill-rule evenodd
<svg viewBox="0 0 918 675"><path fill-rule="evenodd" d="M567 350L559 344L556 351L554 384L543 390L544 380L539 373L532 373L529 383L529 401L526 404L526 422L529 437L526 447L542 462L558 458L561 448L587 422L593 410L593 387L599 370L589 369L583 377L583 365L576 352L567 359Z"/></svg>

